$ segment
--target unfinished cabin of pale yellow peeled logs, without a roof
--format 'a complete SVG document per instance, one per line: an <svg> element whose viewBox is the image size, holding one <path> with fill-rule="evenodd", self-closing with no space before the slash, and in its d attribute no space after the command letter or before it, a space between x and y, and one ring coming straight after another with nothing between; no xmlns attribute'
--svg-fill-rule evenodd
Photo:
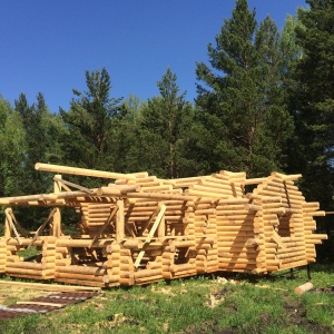
<svg viewBox="0 0 334 334"><path fill-rule="evenodd" d="M247 179L222 170L160 179L40 163L36 169L56 174L51 194L0 198L0 273L12 277L108 287L216 272L267 274L314 263L315 245L327 238L314 233L314 216L325 212L305 200L295 185L301 175ZM89 189L66 174L112 183ZM17 206L50 214L28 232ZM76 235L62 232L63 207L79 214ZM31 246L39 253L23 259L20 252Z"/></svg>

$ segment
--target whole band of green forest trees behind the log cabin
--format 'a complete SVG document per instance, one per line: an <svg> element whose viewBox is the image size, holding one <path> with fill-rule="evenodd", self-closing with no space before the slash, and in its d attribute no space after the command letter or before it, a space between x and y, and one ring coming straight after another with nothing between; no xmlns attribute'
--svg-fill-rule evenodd
<svg viewBox="0 0 334 334"><path fill-rule="evenodd" d="M196 65L194 104L170 68L157 82L159 95L145 101L114 97L106 68L82 73L87 89L73 89L69 109L56 114L42 92L32 104L23 92L13 105L0 96L0 196L52 191L52 176L36 171L37 161L161 178L222 169L264 177L275 170L302 174L306 199L333 212L334 1L306 3L278 31L269 17L257 21L247 0L237 0L207 47L208 63ZM16 213L31 228L47 214ZM73 214L65 212L62 220L70 226ZM318 257L328 261L333 215L317 223L330 236Z"/></svg>

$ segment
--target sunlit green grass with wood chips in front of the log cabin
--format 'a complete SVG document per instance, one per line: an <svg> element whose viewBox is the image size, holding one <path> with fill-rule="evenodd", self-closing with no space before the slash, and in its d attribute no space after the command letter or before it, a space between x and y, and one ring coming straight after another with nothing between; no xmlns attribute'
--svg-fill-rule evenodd
<svg viewBox="0 0 334 334"><path fill-rule="evenodd" d="M312 266L315 289L303 295L294 289L306 282L304 269L294 279L223 277L114 287L57 312L3 321L0 333L334 333L334 265Z"/></svg>

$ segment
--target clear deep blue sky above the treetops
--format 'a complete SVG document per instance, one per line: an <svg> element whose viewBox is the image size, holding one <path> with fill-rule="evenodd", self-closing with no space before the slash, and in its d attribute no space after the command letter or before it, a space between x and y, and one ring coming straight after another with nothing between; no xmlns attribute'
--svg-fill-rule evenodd
<svg viewBox="0 0 334 334"><path fill-rule="evenodd" d="M249 0L257 20L281 29L304 0ZM196 61L230 18L234 0L0 0L0 95L29 104L39 91L50 110L68 109L85 71L106 67L111 96L146 100L170 67L186 99L196 97Z"/></svg>

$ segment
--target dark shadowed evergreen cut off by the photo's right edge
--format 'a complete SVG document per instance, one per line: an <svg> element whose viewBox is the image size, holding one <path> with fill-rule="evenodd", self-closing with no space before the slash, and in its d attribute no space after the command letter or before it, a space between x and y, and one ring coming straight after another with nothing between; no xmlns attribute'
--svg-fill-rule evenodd
<svg viewBox="0 0 334 334"><path fill-rule="evenodd" d="M292 170L304 178L308 199L333 210L334 202L334 2L308 0L310 9L298 10L296 42L303 55L293 71L292 114L297 141ZM325 228L331 235L331 223ZM333 247L333 246L332 246Z"/></svg>

